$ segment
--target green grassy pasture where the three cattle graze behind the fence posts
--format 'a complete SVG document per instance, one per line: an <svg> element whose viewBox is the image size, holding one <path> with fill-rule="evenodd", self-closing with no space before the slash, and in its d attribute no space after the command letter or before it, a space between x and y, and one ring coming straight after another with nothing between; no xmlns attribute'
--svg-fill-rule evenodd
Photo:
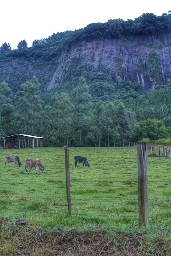
<svg viewBox="0 0 171 256"><path fill-rule="evenodd" d="M71 217L68 217L65 148L0 149L0 216L41 227L79 229L138 227L138 163L135 147L69 148ZM21 167L5 167L18 155ZM74 165L74 156L90 167ZM45 173L26 174L24 159L40 159ZM171 159L148 157L150 225L171 225Z"/></svg>

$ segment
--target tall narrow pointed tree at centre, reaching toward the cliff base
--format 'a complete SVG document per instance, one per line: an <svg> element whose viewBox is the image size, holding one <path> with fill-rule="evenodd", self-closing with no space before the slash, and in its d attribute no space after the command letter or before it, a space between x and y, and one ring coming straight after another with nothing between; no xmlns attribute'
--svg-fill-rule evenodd
<svg viewBox="0 0 171 256"><path fill-rule="evenodd" d="M88 130L88 116L92 110L91 94L89 94L89 87L85 79L81 76L78 86L73 88L74 102L75 102L75 121L78 120L78 132L80 137L80 144L82 143L82 133L86 137Z"/></svg>

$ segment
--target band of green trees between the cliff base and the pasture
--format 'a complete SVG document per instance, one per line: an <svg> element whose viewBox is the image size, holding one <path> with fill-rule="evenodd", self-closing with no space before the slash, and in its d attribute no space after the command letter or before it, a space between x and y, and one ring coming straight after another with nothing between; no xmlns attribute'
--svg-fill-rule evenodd
<svg viewBox="0 0 171 256"><path fill-rule="evenodd" d="M126 92L128 87L132 90L129 81L124 83L127 86L120 82L118 90L124 88ZM151 96L151 100L153 97L156 100L159 89L150 92L149 96L142 93L135 99L128 97L126 100L116 100L113 97L113 100L93 101L86 80L80 77L73 88L72 99L66 92L54 92L45 103L40 98L39 87L36 76L22 84L22 90L18 90L15 95L6 82L0 84L1 137L16 133L37 135L44 137L43 146L58 147L66 144L126 146L129 141L157 140L171 135L170 112L160 120L155 115L151 118L144 111L141 115L145 114L146 117L139 121L136 117L138 110L135 110L135 106L140 103L140 99L143 102ZM161 90L171 90L171 85L166 87ZM131 108L128 108L126 106L131 99L134 103L129 103ZM142 104L139 106L144 107Z"/></svg>

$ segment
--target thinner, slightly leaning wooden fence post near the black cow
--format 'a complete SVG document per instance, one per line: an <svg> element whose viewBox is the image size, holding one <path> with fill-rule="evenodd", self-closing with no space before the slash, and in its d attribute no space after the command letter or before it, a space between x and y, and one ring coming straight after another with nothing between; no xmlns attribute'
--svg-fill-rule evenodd
<svg viewBox="0 0 171 256"><path fill-rule="evenodd" d="M65 146L65 172L66 172L66 188L67 188L67 202L68 213L71 216L71 195L70 195L70 177L69 177L69 148Z"/></svg>

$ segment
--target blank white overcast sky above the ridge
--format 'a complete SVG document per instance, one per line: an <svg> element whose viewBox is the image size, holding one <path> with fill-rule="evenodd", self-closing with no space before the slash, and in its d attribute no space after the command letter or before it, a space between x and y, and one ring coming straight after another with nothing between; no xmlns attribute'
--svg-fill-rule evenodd
<svg viewBox="0 0 171 256"><path fill-rule="evenodd" d="M53 32L116 18L134 20L143 13L160 16L170 10L170 0L1 0L0 47L9 43L17 49L21 40L30 47L35 39L48 38Z"/></svg>

